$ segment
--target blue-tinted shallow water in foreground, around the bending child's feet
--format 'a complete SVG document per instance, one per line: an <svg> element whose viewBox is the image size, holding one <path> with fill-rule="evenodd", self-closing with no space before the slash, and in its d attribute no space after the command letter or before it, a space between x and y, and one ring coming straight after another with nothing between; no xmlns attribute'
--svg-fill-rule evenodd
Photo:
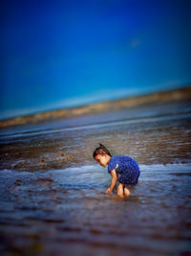
<svg viewBox="0 0 191 256"><path fill-rule="evenodd" d="M190 251L191 166L140 165L140 172L130 198L121 199L116 191L104 194L110 176L96 165L2 171L3 250L69 255L111 254L114 248L119 255Z"/></svg>

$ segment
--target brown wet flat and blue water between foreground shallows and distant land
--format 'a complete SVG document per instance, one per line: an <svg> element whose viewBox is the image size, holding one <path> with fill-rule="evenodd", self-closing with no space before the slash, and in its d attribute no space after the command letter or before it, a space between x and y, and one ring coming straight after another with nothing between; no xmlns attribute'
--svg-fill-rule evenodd
<svg viewBox="0 0 191 256"><path fill-rule="evenodd" d="M186 166L191 159L190 121L191 102L186 100L11 128L1 133L0 170L46 172L92 165L98 143L138 164Z"/></svg>

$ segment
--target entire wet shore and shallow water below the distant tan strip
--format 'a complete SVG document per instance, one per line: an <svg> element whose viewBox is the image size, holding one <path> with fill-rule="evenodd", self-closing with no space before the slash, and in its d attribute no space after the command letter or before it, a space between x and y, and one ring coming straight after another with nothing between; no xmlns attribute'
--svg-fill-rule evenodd
<svg viewBox="0 0 191 256"><path fill-rule="evenodd" d="M92 153L103 143L140 168L119 199ZM191 253L187 98L1 128L2 255Z"/></svg>

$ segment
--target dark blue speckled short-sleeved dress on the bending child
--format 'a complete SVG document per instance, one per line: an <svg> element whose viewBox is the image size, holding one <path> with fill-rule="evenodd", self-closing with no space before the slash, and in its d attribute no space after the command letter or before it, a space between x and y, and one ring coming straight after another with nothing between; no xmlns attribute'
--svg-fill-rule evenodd
<svg viewBox="0 0 191 256"><path fill-rule="evenodd" d="M118 164L118 167L117 167ZM112 155L108 163L108 173L116 169L122 184L137 184L140 171L138 163L127 155Z"/></svg>

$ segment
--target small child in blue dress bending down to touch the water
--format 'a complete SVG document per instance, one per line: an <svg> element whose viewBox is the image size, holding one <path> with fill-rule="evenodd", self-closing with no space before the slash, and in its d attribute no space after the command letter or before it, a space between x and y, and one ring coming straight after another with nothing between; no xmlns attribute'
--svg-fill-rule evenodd
<svg viewBox="0 0 191 256"><path fill-rule="evenodd" d="M111 193L118 181L117 196L119 198L129 197L130 191L127 185L138 183L140 174L138 163L127 155L111 155L102 144L99 144L99 147L96 148L93 157L99 165L103 167L108 165L108 173L112 175L111 185L106 193ZM118 175L120 175L119 178Z"/></svg>

